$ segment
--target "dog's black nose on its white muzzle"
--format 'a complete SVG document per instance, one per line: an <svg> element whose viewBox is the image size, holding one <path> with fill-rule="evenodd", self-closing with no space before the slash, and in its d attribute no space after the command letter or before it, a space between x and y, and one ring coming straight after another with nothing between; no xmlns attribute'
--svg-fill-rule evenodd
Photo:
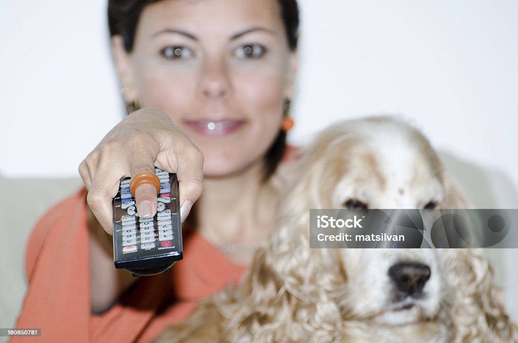
<svg viewBox="0 0 518 343"><path fill-rule="evenodd" d="M423 290L430 278L430 267L415 262L397 263L389 268L389 276L396 283L398 291L414 295Z"/></svg>

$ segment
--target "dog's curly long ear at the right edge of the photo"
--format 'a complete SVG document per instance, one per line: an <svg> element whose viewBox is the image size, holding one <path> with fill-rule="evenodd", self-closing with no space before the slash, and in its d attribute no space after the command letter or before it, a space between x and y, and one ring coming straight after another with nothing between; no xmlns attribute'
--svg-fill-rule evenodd
<svg viewBox="0 0 518 343"><path fill-rule="evenodd" d="M452 342L518 342L518 327L503 308L493 269L481 249L443 251L452 293L445 306Z"/></svg>

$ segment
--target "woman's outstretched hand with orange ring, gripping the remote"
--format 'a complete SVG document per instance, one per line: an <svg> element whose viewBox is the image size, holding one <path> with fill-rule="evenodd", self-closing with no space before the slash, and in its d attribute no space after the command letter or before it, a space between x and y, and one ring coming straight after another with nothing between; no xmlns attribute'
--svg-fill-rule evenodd
<svg viewBox="0 0 518 343"><path fill-rule="evenodd" d="M182 222L202 194L203 155L163 111L142 108L127 116L99 142L79 165L88 189L87 202L104 230L112 234L112 199L119 181L159 167L176 173ZM135 192L140 217L156 213L156 189L140 185Z"/></svg>

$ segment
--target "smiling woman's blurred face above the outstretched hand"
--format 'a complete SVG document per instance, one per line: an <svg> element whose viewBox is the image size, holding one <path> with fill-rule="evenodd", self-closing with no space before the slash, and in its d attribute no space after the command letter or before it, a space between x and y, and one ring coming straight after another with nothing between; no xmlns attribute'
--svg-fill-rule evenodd
<svg viewBox="0 0 518 343"><path fill-rule="evenodd" d="M206 176L238 173L277 136L296 68L277 0L165 0L134 49L114 55L128 95L162 109L203 152Z"/></svg>

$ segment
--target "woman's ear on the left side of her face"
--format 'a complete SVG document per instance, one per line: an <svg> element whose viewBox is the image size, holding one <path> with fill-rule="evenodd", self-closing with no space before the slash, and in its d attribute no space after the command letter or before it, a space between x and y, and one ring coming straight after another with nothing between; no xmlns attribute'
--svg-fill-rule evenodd
<svg viewBox="0 0 518 343"><path fill-rule="evenodd" d="M124 49L124 41L121 35L114 35L110 40L111 54L117 68L117 74L126 103L131 103L137 98L134 76L131 68L130 54Z"/></svg>

